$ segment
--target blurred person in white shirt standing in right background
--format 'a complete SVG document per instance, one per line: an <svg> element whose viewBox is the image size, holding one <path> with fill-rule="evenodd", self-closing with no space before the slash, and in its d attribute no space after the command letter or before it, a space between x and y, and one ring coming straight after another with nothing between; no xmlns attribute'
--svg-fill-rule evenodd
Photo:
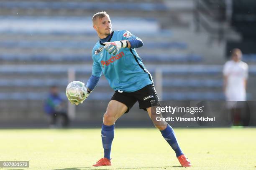
<svg viewBox="0 0 256 170"><path fill-rule="evenodd" d="M223 90L233 125L242 125L244 118L247 117L246 113L241 112L244 103L241 101L246 101L248 65L241 61L241 58L242 51L238 48L233 49L231 60L227 61L223 68Z"/></svg>

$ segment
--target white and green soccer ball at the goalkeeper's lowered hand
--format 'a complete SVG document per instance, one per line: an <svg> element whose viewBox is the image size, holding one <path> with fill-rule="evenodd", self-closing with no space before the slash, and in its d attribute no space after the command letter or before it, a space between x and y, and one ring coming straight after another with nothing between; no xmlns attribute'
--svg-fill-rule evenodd
<svg viewBox="0 0 256 170"><path fill-rule="evenodd" d="M71 103L83 103L87 94L87 89L83 82L73 81L67 85L66 96Z"/></svg>

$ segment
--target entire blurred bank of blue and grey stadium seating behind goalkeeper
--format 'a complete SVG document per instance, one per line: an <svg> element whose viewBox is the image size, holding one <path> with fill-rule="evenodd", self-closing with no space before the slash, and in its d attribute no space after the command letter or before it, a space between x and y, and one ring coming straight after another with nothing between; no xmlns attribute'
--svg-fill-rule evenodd
<svg viewBox="0 0 256 170"><path fill-rule="evenodd" d="M14 108L12 102L5 101L15 100L20 104L15 105L13 112L30 105L42 114L41 105L51 85L57 85L66 98L64 90L69 69L75 70L75 80L86 82L92 73L91 49L98 41L91 17L102 9L110 13L113 30L130 30L143 40L144 45L137 52L155 84L159 84L156 75L160 72L161 100L224 100L224 61L220 60L222 56L218 57L222 47L209 47L205 38L208 35L192 31L192 2L111 2L115 3L1 0L0 101L6 103L5 108ZM254 56L244 58L252 61ZM256 68L252 66L250 76L255 75ZM88 100L108 101L112 95L113 90L102 76ZM41 117L39 113L38 117Z"/></svg>

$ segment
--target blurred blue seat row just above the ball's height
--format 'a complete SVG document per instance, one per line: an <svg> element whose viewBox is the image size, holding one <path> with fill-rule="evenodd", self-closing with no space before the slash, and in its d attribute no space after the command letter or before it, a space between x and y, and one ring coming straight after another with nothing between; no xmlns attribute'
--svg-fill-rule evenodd
<svg viewBox="0 0 256 170"><path fill-rule="evenodd" d="M76 69L75 65L70 65L65 67L63 65L30 65L30 66L17 66L17 65L2 65L0 67L0 74L66 74L68 68L74 68L78 74L87 74L92 73L91 67L79 67ZM147 67L148 71L151 74L156 72L156 68L153 66ZM222 65L170 65L163 66L162 72L163 75L222 75ZM249 74L256 75L256 67L249 67Z"/></svg>

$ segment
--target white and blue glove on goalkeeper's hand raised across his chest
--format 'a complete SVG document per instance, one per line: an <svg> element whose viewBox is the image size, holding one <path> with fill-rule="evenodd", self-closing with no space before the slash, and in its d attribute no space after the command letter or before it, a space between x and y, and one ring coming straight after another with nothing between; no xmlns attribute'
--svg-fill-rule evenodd
<svg viewBox="0 0 256 170"><path fill-rule="evenodd" d="M104 48L108 51L108 53L115 55L120 48L128 47L128 43L126 40L122 41L113 41L113 42L104 42Z"/></svg>

